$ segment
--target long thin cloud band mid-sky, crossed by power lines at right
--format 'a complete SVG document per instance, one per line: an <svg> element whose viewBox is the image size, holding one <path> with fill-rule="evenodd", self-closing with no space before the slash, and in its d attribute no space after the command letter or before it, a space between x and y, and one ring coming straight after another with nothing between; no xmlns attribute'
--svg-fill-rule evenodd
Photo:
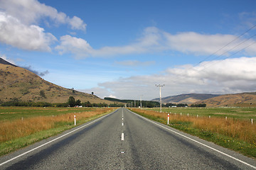
<svg viewBox="0 0 256 170"><path fill-rule="evenodd" d="M105 57L161 52L165 50L173 50L192 55L211 55L235 38L237 38L235 35L206 35L194 32L172 35L158 28L149 27L144 30L141 38L138 38L129 45L116 47L105 46L100 49L94 49L86 40L65 35L60 38L60 45L56 47L56 50L59 50L60 53L71 52L80 57ZM246 52L253 55L256 52L256 45L252 45L253 43L255 43L254 40L242 40L238 38L238 40L216 52L215 55L230 55L230 53L242 50L248 45L251 46L247 47Z"/></svg>

